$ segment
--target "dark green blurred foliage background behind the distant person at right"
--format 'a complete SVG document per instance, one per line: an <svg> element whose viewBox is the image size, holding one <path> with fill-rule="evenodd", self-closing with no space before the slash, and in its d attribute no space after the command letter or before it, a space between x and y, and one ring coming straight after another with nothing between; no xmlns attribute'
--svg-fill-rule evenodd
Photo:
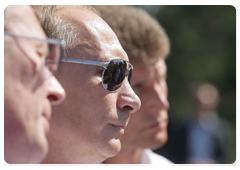
<svg viewBox="0 0 240 170"><path fill-rule="evenodd" d="M205 81L220 92L218 114L233 128L229 165L238 165L238 6L136 6L165 29L171 42L168 66L169 120L184 121L192 112L193 82Z"/></svg>

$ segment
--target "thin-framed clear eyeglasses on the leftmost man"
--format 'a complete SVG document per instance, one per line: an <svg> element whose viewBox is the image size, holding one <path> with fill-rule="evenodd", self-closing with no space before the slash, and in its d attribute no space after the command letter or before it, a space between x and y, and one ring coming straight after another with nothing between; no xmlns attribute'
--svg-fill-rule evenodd
<svg viewBox="0 0 240 170"><path fill-rule="evenodd" d="M28 37L28 36L22 36L22 35L16 35L7 31L4 31L4 36L10 36L13 38L22 38L32 41L40 41L43 43L48 43L47 47L49 50L48 55L45 58L45 65L50 70L52 74L55 73L55 71L58 70L62 54L63 54L63 47L65 46L64 40L56 40L51 38L41 39L36 37Z"/></svg>

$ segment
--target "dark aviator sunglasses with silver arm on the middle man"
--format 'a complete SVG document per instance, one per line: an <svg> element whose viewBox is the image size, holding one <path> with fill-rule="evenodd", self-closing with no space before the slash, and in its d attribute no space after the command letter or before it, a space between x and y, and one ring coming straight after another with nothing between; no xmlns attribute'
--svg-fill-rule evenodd
<svg viewBox="0 0 240 170"><path fill-rule="evenodd" d="M107 91L111 92L117 91L122 86L123 80L125 79L126 76L128 76L128 82L129 84L131 84L133 66L126 60L113 59L110 60L109 62L103 63L89 60L62 58L61 61L68 63L79 63L104 67L105 69L103 70L102 73L102 84ZM129 68L128 65L130 66Z"/></svg>

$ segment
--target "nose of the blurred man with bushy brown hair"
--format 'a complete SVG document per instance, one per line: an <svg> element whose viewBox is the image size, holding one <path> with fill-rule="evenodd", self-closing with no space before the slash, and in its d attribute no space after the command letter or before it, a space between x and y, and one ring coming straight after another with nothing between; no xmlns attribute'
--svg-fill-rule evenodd
<svg viewBox="0 0 240 170"><path fill-rule="evenodd" d="M167 100L167 85L166 83L160 84L159 82L152 83L152 92L151 92L151 99L156 103L156 105L164 108L169 109L170 104Z"/></svg>

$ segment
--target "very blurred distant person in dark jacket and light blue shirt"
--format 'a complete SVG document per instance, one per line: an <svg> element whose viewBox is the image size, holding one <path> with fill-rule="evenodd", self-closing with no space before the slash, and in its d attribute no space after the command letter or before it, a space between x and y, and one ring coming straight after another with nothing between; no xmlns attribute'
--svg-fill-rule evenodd
<svg viewBox="0 0 240 170"><path fill-rule="evenodd" d="M181 166L229 165L232 152L232 127L217 113L220 94L209 83L196 82L190 87L193 112L178 122L171 142L161 152ZM174 126L172 125L172 126Z"/></svg>

